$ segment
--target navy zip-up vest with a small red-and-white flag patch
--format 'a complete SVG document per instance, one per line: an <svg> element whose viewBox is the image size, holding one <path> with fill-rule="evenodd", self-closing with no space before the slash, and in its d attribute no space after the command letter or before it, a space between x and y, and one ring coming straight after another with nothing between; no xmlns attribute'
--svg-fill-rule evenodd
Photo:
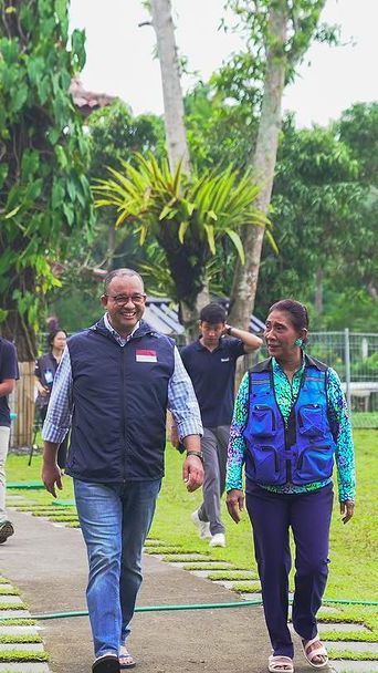
<svg viewBox="0 0 378 673"><path fill-rule="evenodd" d="M120 346L101 320L67 345L74 404L67 474L99 483L162 477L174 341L141 322Z"/></svg>

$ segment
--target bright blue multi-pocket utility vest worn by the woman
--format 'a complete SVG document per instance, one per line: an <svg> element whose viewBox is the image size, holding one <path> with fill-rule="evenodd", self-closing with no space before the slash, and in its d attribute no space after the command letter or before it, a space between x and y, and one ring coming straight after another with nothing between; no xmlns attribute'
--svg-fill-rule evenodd
<svg viewBox="0 0 378 673"><path fill-rule="evenodd" d="M322 482L330 477L336 443L327 414L327 365L306 358L287 427L277 405L271 359L249 372L246 479L264 485Z"/></svg>

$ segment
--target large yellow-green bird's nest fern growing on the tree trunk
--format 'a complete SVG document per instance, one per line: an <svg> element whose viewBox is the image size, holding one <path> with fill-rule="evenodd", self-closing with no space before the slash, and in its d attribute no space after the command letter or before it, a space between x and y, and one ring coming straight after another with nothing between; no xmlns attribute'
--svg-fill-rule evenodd
<svg viewBox="0 0 378 673"><path fill-rule="evenodd" d="M197 320L198 296L207 283L207 262L217 246L230 239L243 263L239 231L245 225L267 225L274 246L269 221L254 206L259 187L249 172L240 176L227 168L188 176L181 164L171 172L166 159L159 164L153 155L137 155L134 165L125 162L123 167L122 173L109 168L112 177L96 180L95 205L115 207L115 226L136 230L141 246L147 235L158 241L175 282L183 322L191 325Z"/></svg>

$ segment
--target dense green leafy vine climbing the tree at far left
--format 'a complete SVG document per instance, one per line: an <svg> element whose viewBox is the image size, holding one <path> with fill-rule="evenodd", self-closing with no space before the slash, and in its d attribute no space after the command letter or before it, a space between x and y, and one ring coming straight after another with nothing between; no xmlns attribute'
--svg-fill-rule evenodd
<svg viewBox="0 0 378 673"><path fill-rule="evenodd" d="M69 87L85 62L67 0L0 0L1 332L35 356L45 293L69 236L91 226L87 141Z"/></svg>

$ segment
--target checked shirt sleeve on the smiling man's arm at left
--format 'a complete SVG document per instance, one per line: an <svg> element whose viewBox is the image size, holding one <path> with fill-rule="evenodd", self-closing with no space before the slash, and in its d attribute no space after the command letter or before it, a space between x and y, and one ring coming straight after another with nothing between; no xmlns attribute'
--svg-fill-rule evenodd
<svg viewBox="0 0 378 673"><path fill-rule="evenodd" d="M61 444L71 425L73 410L72 369L67 346L54 376L46 417L43 424L42 438L45 442Z"/></svg>

